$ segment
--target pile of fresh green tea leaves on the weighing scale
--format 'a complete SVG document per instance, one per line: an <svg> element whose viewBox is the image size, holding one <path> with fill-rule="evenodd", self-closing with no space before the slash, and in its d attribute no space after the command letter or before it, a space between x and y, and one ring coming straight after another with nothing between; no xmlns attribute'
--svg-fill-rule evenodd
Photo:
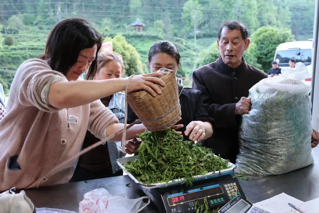
<svg viewBox="0 0 319 213"><path fill-rule="evenodd" d="M183 136L175 130L146 131L139 137L143 141L137 149L139 155L124 167L141 183L183 179L182 184L187 181L191 186L193 176L228 168L228 161L214 156L200 143L194 145L192 141L183 141Z"/></svg>

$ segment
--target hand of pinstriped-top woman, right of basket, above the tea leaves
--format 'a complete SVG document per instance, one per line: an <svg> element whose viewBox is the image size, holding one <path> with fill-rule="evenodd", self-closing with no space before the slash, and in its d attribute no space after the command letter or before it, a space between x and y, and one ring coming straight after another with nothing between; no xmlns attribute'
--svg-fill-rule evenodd
<svg viewBox="0 0 319 213"><path fill-rule="evenodd" d="M189 140L199 142L203 139L211 137L213 129L210 123L203 121L192 121L186 126L185 135L189 136Z"/></svg>

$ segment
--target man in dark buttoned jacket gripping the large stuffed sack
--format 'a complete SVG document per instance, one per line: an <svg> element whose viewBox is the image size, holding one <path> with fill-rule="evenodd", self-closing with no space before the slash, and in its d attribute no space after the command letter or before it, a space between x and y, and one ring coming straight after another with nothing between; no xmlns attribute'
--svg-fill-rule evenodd
<svg viewBox="0 0 319 213"><path fill-rule="evenodd" d="M201 92L208 116L215 120L214 134L203 145L235 163L241 115L251 109L249 89L268 76L245 62L249 39L241 22L222 23L217 43L219 58L193 72L193 88Z"/></svg>

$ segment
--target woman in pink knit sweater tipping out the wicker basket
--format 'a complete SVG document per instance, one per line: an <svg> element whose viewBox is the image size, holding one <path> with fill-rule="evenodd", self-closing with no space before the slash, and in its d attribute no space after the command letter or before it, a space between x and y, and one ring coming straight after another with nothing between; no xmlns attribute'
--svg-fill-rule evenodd
<svg viewBox="0 0 319 213"><path fill-rule="evenodd" d="M0 121L0 192L67 182L75 162L50 177L56 165L81 149L86 130L103 139L123 128L100 101L125 89L127 78L93 80L102 36L84 19L66 19L52 29L45 53L25 61L13 79L7 114ZM87 80L77 81L87 71ZM128 92L152 95L164 86L159 73L130 79ZM135 125L127 140L145 131ZM120 141L121 135L112 139Z"/></svg>

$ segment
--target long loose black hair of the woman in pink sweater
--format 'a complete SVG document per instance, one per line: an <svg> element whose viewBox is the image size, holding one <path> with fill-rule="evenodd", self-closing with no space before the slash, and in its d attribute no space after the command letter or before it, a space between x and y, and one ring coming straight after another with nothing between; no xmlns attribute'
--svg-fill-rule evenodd
<svg viewBox="0 0 319 213"><path fill-rule="evenodd" d="M68 70L77 62L80 51L97 45L95 59L87 74L87 80L93 80L97 72L98 52L104 38L84 19L65 19L56 24L51 30L45 53L38 58L47 60L51 69L66 75Z"/></svg>

